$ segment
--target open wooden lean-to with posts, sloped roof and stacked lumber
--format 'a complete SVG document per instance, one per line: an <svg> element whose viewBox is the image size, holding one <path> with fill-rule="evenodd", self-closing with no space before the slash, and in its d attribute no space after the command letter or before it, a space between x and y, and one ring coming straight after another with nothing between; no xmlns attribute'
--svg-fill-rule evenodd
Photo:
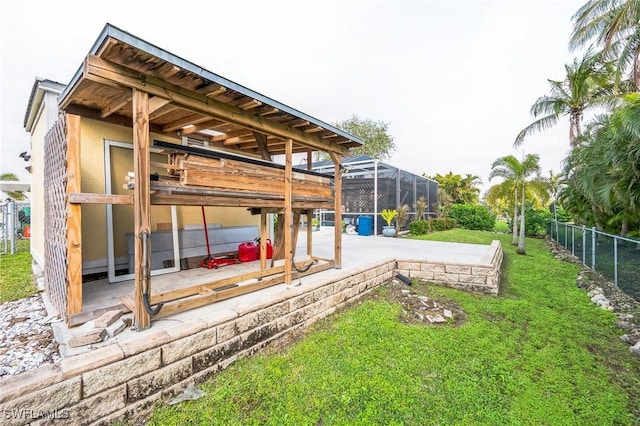
<svg viewBox="0 0 640 426"><path fill-rule="evenodd" d="M123 302L133 311L138 330L150 326L161 304L161 315L168 315L277 283L290 284L301 274L293 263L300 215L306 214L310 223L314 208L333 208L340 223L341 158L362 144L334 126L109 24L61 94L60 107L67 115L67 317L82 311L81 205L133 204L135 286L133 298ZM132 128L133 195L80 192L80 117ZM169 161L162 165L167 175L153 181L148 178L151 132L182 140L155 142ZM201 148L189 149L189 141ZM335 166L333 191L326 176L294 169L294 153L306 153L310 167L313 151L330 155ZM228 155L232 153L239 156ZM272 156L279 154L285 156L284 167L272 163ZM156 204L259 208L260 271L151 295L150 207ZM278 267L268 267L265 257L268 213L284 217L278 221L274 249L274 258L284 259ZM311 254L311 227L307 228ZM340 226L335 227L334 259L325 261L305 274L341 266ZM224 289L251 278L258 281Z"/></svg>

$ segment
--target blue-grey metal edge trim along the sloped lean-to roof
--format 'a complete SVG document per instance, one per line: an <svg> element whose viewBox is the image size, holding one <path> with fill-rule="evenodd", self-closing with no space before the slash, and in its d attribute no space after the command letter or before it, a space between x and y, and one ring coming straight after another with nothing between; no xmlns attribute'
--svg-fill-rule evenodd
<svg viewBox="0 0 640 426"><path fill-rule="evenodd" d="M347 132L345 132L342 129L339 129L331 124L325 123L322 120L319 120L315 117L312 117L308 114L305 114L301 111L298 111L295 108L292 108L290 106L287 106L283 103L280 103L278 101L276 101L275 99L269 98L268 96L265 96L261 93L258 93L254 90L249 89L248 87L242 86L241 84L235 83L231 80L228 80L218 74L215 74L211 71L208 71L206 68L203 68L199 65L194 64L193 62L187 61L186 59L181 58L180 56L174 55L152 43L149 43L139 37L134 36L131 33L128 33L124 30L121 30L120 28L107 23L102 32L100 33L100 35L98 36L98 39L95 41L95 43L93 43L93 46L91 47L91 50L89 51L90 54L94 55L98 52L100 46L102 46L102 44L104 43L104 41L108 38L108 37L113 37L115 39L118 39L124 43L127 43L133 47L136 47L138 49L141 49L151 55L157 56L158 58L164 59L176 66L179 66L180 68L183 68L187 71L191 71L203 78L206 78L207 80L213 82L213 83L218 83L224 87L227 87L229 89L235 90L239 93L242 93L245 96L250 96L256 100L259 100L262 103L266 103L268 105L271 105L273 107L278 108L281 111L287 112L289 114L295 115L297 117L300 117L306 121L309 121L310 123L313 123L317 126L320 127L324 127L327 130L330 130L342 137L345 137L349 140L352 140L356 143L359 143L361 145L364 145L364 141L362 141L360 138L353 136ZM82 65L80 66L80 68L78 68L78 71L76 71L76 73L73 75L71 81L69 82L69 84L67 85L66 89L62 92L62 94L60 95L60 97L58 98L58 102L62 103L64 101L64 99L68 96L69 92L71 91L71 88L73 88L75 86L75 84L77 83L77 81L80 79L80 76L82 75Z"/></svg>

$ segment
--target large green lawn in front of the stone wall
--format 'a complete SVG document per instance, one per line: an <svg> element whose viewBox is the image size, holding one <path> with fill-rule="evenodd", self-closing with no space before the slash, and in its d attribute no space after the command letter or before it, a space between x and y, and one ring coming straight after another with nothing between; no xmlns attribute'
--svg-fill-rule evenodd
<svg viewBox="0 0 640 426"><path fill-rule="evenodd" d="M204 398L160 407L149 424L640 424L640 363L614 315L576 288L576 265L542 240L518 256L508 235L425 239L496 238L499 297L413 286L455 302L462 326L403 324L381 287L291 348L235 362L201 386Z"/></svg>

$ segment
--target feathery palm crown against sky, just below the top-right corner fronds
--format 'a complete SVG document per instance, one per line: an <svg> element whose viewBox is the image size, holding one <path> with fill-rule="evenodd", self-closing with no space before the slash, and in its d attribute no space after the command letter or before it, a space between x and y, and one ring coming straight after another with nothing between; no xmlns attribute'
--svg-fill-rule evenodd
<svg viewBox="0 0 640 426"><path fill-rule="evenodd" d="M611 65L601 64L598 56L587 52L581 60L565 65L565 71L564 80L548 80L550 94L539 97L531 106L536 121L518 133L514 147L519 147L527 136L555 126L565 115L569 116L569 144L573 147L582 133L584 111L615 104Z"/></svg>

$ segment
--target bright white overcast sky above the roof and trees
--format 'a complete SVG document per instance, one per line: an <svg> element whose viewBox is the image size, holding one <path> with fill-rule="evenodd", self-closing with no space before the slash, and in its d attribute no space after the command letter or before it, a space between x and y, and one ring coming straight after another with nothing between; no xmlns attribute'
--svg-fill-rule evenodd
<svg viewBox="0 0 640 426"><path fill-rule="evenodd" d="M86 1L0 3L0 172L18 158L36 76L67 83L109 22L326 122L390 123L389 162L414 173L487 175L522 155L529 108L562 79L581 1ZM568 123L531 137L560 170Z"/></svg>

